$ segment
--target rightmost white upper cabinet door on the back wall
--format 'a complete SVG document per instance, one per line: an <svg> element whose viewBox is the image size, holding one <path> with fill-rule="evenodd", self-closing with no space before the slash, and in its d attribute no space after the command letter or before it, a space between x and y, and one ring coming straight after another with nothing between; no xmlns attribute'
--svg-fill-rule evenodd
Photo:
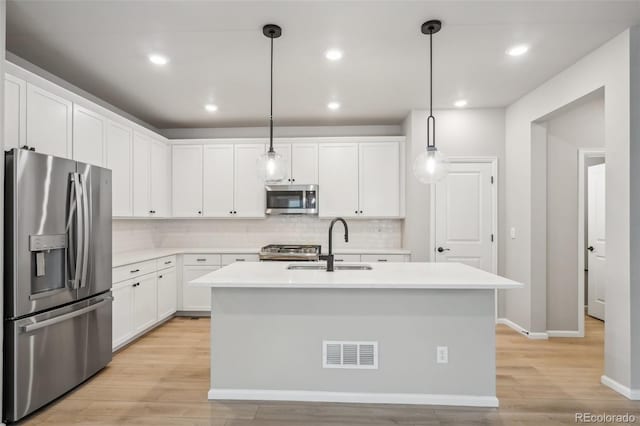
<svg viewBox="0 0 640 426"><path fill-rule="evenodd" d="M361 143L359 152L358 215L400 216L400 145L398 142Z"/></svg>

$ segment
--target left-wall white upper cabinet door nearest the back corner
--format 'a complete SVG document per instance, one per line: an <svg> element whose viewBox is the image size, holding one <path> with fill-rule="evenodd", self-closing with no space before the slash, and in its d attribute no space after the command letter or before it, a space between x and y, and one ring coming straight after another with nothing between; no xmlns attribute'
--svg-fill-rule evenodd
<svg viewBox="0 0 640 426"><path fill-rule="evenodd" d="M171 154L167 144L151 141L151 215L167 217L171 212Z"/></svg>

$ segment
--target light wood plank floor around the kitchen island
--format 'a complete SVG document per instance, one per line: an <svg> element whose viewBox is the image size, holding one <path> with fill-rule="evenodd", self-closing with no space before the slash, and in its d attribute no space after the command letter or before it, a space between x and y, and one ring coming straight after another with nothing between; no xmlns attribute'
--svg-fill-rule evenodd
<svg viewBox="0 0 640 426"><path fill-rule="evenodd" d="M209 402L209 320L176 318L115 355L93 380L27 419L47 425L546 425L575 412L640 416L600 384L603 324L584 339L528 340L497 327L499 409L413 405Z"/></svg>

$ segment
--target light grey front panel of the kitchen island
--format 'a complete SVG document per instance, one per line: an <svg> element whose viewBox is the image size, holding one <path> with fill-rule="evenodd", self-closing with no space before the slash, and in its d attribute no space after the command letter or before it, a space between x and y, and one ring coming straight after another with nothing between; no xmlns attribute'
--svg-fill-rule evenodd
<svg viewBox="0 0 640 426"><path fill-rule="evenodd" d="M212 390L495 397L493 290L214 288L211 323ZM323 340L378 342L378 369L323 368Z"/></svg>

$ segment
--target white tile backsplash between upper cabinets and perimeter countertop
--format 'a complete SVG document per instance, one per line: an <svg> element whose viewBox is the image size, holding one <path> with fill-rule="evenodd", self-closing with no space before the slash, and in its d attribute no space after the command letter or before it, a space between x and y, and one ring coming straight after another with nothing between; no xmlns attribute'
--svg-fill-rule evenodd
<svg viewBox="0 0 640 426"><path fill-rule="evenodd" d="M114 220L113 250L150 247L247 247L266 244L322 244L326 249L330 219L270 216L265 219ZM401 248L402 220L347 220L334 227L335 247Z"/></svg>

